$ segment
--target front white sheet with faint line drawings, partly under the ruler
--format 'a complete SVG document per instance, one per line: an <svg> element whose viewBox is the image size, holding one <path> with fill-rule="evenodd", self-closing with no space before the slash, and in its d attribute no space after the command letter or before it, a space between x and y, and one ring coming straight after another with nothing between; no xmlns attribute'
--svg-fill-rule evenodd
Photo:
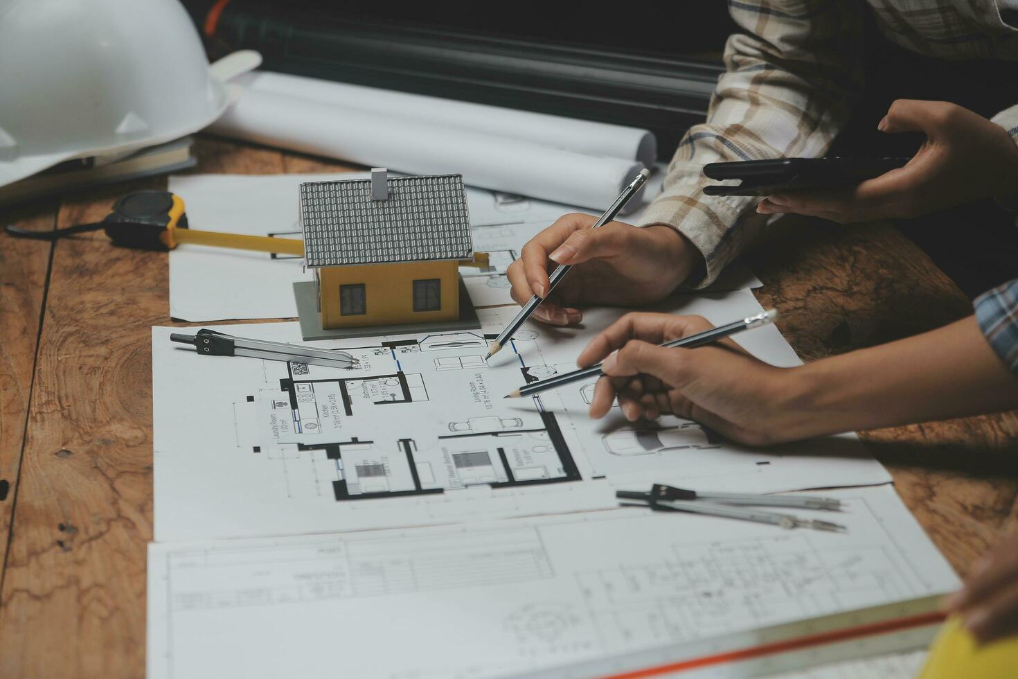
<svg viewBox="0 0 1018 679"><path fill-rule="evenodd" d="M489 677L959 586L893 489L826 495L847 533L632 509L152 545L148 676Z"/></svg>

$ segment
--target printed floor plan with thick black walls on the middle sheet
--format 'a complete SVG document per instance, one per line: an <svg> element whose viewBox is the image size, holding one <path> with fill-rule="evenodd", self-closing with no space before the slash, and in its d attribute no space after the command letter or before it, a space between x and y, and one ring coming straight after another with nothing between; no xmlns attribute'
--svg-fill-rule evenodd
<svg viewBox="0 0 1018 679"><path fill-rule="evenodd" d="M281 446L324 453L335 464L336 500L579 479L553 413L498 412L488 341L433 334L346 346L351 369L286 363L278 389L237 403L261 423L253 439L238 427L238 440L259 454ZM450 416L443 405L453 402L460 407Z"/></svg>

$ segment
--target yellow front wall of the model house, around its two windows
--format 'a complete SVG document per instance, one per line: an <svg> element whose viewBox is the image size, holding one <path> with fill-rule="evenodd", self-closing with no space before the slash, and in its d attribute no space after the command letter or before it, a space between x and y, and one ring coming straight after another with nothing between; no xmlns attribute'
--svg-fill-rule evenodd
<svg viewBox="0 0 1018 679"><path fill-rule="evenodd" d="M319 292L323 328L356 328L399 323L453 321L459 318L459 267L456 262L411 262L319 270ZM413 310L413 281L438 278L442 281L442 308ZM365 314L341 316L339 286L362 284Z"/></svg>

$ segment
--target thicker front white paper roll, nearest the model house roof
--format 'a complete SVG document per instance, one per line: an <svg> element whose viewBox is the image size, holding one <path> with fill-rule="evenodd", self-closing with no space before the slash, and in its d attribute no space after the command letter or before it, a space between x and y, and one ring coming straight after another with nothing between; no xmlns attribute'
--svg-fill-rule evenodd
<svg viewBox="0 0 1018 679"><path fill-rule="evenodd" d="M606 209L642 167L572 151L246 90L209 131L472 186Z"/></svg>

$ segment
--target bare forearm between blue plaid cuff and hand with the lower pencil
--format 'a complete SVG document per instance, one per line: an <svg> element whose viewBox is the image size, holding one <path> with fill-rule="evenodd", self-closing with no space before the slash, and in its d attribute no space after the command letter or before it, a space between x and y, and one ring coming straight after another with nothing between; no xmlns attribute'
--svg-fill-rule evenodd
<svg viewBox="0 0 1018 679"><path fill-rule="evenodd" d="M794 438L1018 407L1018 377L975 317L915 337L793 369L802 413Z"/></svg>

